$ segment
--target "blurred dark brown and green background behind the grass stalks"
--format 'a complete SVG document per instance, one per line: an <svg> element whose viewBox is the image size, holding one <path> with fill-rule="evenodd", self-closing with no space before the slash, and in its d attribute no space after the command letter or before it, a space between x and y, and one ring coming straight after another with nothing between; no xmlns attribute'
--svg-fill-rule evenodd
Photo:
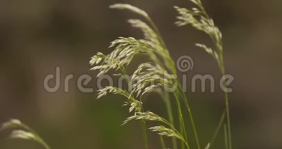
<svg viewBox="0 0 282 149"><path fill-rule="evenodd" d="M88 87L96 90L97 72L89 71L90 57L98 51L110 53L107 47L116 37L141 37L126 22L139 17L108 9L113 3L130 3L150 14L172 57L193 57L194 69L186 75L219 78L212 57L194 47L195 42L212 45L210 39L192 27L174 25L173 6L191 7L188 0L0 0L0 123L22 120L52 149L143 149L139 123L120 126L130 115L121 106L122 97L95 100L97 93L81 93L76 85L80 75L88 74L93 76ZM226 70L235 76L230 94L234 149L281 149L282 0L203 3L223 32ZM129 70L144 61L136 57ZM43 79L54 74L56 66L61 68L61 86L48 93ZM69 74L74 79L70 92L64 93L64 77ZM224 109L223 93L188 96L204 146ZM157 94L147 95L144 106L167 117ZM192 139L191 131L188 134ZM43 149L29 141L6 140L6 135L0 133L0 149ZM155 133L149 132L149 145L160 149ZM224 149L222 131L216 148Z"/></svg>

